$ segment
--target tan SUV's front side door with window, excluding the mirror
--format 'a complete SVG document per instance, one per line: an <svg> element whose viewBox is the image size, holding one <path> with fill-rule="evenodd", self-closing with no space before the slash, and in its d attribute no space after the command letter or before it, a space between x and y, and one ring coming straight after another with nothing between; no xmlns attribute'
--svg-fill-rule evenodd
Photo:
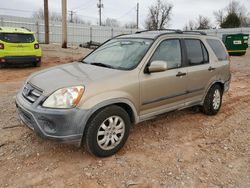
<svg viewBox="0 0 250 188"><path fill-rule="evenodd" d="M140 115L151 116L184 106L187 90L187 69L183 67L183 48L180 39L163 40L156 48L149 64L161 60L168 70L140 73Z"/></svg>

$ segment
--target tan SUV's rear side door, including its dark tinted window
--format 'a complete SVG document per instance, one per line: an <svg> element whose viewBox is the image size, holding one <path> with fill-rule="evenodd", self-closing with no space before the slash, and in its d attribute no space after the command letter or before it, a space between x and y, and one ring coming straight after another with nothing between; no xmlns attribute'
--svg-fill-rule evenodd
<svg viewBox="0 0 250 188"><path fill-rule="evenodd" d="M199 104L202 101L206 88L216 77L217 70L202 40L186 38L184 42L188 73L186 105L189 106Z"/></svg>

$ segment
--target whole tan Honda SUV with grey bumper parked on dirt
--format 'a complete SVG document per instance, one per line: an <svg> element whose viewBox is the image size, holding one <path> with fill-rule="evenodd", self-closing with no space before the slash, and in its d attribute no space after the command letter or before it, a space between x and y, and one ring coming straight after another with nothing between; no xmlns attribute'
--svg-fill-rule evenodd
<svg viewBox="0 0 250 188"><path fill-rule="evenodd" d="M191 106L217 114L230 78L218 38L141 31L107 41L81 62L33 74L16 106L38 135L85 143L89 152L106 157L123 147L133 124Z"/></svg>

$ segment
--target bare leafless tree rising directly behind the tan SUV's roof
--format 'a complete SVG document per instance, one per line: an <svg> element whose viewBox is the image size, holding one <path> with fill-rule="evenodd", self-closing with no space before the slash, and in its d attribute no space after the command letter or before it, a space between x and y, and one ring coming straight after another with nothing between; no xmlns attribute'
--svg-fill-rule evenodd
<svg viewBox="0 0 250 188"><path fill-rule="evenodd" d="M149 15L145 22L146 28L150 30L164 29L171 20L172 9L172 4L164 0L156 0L156 3L149 7Z"/></svg>

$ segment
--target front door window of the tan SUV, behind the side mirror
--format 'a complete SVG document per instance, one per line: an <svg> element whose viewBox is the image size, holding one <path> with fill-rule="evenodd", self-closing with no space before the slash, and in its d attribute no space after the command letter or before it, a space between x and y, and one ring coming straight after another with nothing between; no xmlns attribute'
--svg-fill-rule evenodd
<svg viewBox="0 0 250 188"><path fill-rule="evenodd" d="M181 45L178 39L163 41L156 49L150 62L166 61L168 69L181 67Z"/></svg>

